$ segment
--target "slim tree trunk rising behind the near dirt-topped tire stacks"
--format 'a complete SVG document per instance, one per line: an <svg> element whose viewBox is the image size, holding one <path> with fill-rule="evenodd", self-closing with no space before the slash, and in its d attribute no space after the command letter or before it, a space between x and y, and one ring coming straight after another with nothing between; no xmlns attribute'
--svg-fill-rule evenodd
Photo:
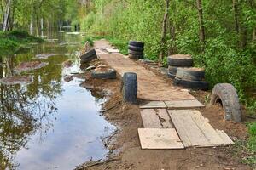
<svg viewBox="0 0 256 170"><path fill-rule="evenodd" d="M200 29L200 42L201 42L201 49L204 50L204 45L206 42L206 35L205 35L205 26L204 26L204 18L203 18L203 9L201 5L201 0L196 0L197 10L198 10L198 20L199 20L199 29Z"/></svg>

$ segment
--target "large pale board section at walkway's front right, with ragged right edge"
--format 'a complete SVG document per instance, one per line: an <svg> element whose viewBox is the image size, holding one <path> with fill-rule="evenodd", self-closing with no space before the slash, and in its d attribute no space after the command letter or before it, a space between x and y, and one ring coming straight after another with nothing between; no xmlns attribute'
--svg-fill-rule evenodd
<svg viewBox="0 0 256 170"><path fill-rule="evenodd" d="M224 131L215 130L200 111L168 111L185 147L208 147L234 144Z"/></svg>

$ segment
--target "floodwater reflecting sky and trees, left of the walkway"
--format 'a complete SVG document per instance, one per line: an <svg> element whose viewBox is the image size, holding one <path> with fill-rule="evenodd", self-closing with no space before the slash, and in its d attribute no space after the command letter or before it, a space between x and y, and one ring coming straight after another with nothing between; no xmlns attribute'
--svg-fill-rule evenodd
<svg viewBox="0 0 256 170"><path fill-rule="evenodd" d="M94 97L83 82L64 77L79 70L82 37L62 33L58 42L44 42L15 56L2 56L0 78L33 76L28 85L0 85L0 169L73 169L108 154L102 137L114 127L98 113L104 99ZM37 54L57 54L37 59ZM63 68L71 59L73 66ZM49 65L15 72L15 65L40 60Z"/></svg>

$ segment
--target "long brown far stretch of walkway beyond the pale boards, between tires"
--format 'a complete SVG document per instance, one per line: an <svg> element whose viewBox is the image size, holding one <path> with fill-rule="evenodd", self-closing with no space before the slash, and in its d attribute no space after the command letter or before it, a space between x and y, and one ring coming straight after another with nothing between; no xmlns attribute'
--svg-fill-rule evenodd
<svg viewBox="0 0 256 170"><path fill-rule="evenodd" d="M105 60L108 65L113 67L120 75L125 72L137 73L138 79L138 98L151 101L176 101L195 99L189 92L182 88L171 86L162 77L157 76L153 71L149 71L142 65L137 65L131 59L119 53L109 54L104 48L111 48L105 40L95 42L95 48L99 59Z"/></svg>

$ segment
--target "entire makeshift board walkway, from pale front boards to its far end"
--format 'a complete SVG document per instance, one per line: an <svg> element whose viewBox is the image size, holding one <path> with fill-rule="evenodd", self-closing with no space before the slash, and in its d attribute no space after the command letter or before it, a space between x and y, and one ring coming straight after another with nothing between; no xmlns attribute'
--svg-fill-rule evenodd
<svg viewBox="0 0 256 170"><path fill-rule="evenodd" d="M204 107L187 90L173 87L132 59L127 59L106 40L95 42L99 59L122 76L137 73L138 98L144 128L138 129L142 149L183 149L234 144L224 131L215 130L201 112ZM185 110L186 109L186 110Z"/></svg>

